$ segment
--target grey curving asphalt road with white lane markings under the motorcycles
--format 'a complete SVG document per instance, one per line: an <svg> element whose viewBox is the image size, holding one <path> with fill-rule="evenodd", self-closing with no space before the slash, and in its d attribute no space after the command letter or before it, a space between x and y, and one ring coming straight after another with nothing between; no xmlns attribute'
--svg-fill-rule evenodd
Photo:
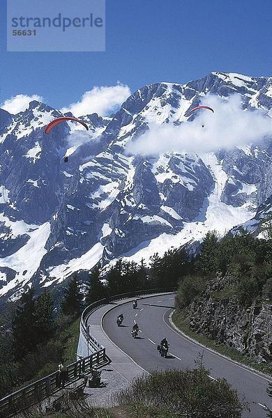
<svg viewBox="0 0 272 418"><path fill-rule="evenodd" d="M169 321L173 307L174 295L146 297L138 300L137 309L133 309L131 302L116 305L106 312L101 323L108 338L145 371L193 368L199 352L204 350L204 364L210 370L211 378L227 379L241 398L244 396L245 401L250 403L250 412L245 412L243 417L265 418L266 412L262 406L271 405L266 394L266 377L186 339ZM117 327L116 317L121 313L124 316L123 325ZM135 321L141 330L137 339L130 334ZM169 342L166 359L160 357L156 349L163 336Z"/></svg>

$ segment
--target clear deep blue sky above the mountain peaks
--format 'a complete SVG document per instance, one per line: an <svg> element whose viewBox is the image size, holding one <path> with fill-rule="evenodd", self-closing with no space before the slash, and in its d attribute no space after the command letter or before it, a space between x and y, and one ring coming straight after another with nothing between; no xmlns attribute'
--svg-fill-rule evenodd
<svg viewBox="0 0 272 418"><path fill-rule="evenodd" d="M106 52L73 53L6 52L3 3L0 102L38 94L61 108L117 81L135 91L211 71L271 76L271 0L106 0Z"/></svg>

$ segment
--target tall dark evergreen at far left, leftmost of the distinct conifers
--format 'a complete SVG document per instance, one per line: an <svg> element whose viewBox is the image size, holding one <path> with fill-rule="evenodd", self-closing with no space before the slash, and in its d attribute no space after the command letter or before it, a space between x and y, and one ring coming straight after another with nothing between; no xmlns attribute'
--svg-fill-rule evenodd
<svg viewBox="0 0 272 418"><path fill-rule="evenodd" d="M13 318L13 352L16 359L23 359L36 347L35 304L33 289L23 293Z"/></svg>

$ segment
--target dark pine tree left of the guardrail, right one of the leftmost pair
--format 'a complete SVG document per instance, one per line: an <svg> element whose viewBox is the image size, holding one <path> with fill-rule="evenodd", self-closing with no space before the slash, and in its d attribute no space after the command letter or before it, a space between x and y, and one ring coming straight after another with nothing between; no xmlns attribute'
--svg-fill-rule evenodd
<svg viewBox="0 0 272 418"><path fill-rule="evenodd" d="M37 343L46 343L56 332L52 294L43 292L35 304L35 335Z"/></svg>

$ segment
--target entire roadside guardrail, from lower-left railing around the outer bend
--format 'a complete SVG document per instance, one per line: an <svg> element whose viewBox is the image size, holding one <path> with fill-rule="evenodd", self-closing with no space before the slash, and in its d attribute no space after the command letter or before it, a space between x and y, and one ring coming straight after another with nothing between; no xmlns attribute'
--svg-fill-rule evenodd
<svg viewBox="0 0 272 418"><path fill-rule="evenodd" d="M66 384L77 380L81 373L88 373L91 371L91 367L93 365L103 364L107 360L105 347L103 347L93 336L89 334L89 330L86 326L86 321L93 311L96 311L96 309L104 304L109 304L116 300L127 299L128 297L139 297L152 293L168 293L175 290L176 289L173 288L162 288L122 293L121 295L105 297L104 299L90 304L89 307L86 307L86 309L82 312L80 332L84 336L84 339L86 339L88 346L89 344L91 345L93 353L84 358L78 359L77 362L67 366ZM31 405L44 401L45 398L48 398L52 394L58 392L59 389L59 371L55 371L49 376L36 380L36 382L33 382L22 389L18 389L16 392L0 399L0 417L13 417L22 410L29 408Z"/></svg>

